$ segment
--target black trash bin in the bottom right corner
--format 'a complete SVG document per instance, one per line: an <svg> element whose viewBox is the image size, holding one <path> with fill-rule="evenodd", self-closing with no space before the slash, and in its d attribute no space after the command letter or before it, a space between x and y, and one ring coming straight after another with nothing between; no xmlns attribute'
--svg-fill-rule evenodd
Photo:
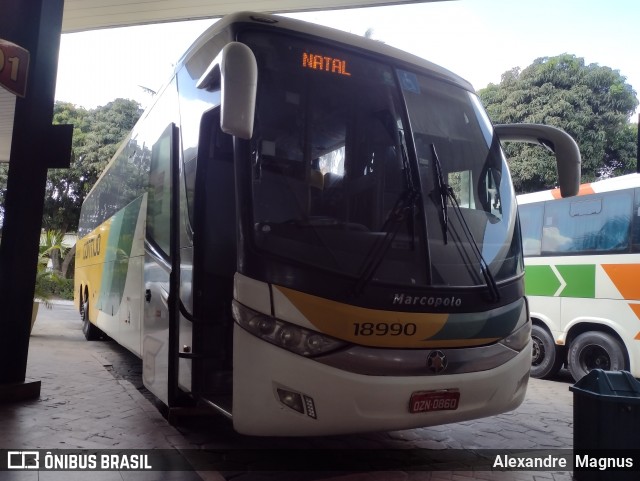
<svg viewBox="0 0 640 481"><path fill-rule="evenodd" d="M574 479L640 480L640 382L593 369L573 386Z"/></svg>

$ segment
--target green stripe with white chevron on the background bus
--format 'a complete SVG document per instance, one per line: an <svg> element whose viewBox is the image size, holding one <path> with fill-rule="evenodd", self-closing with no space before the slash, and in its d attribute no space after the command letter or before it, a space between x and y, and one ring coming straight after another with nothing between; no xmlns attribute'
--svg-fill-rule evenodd
<svg viewBox="0 0 640 481"><path fill-rule="evenodd" d="M594 298L595 278L594 264L525 267L525 289L528 296Z"/></svg>

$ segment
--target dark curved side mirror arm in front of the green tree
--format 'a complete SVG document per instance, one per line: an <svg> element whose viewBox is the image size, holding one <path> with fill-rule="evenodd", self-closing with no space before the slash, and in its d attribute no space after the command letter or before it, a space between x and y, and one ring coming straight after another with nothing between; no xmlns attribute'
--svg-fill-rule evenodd
<svg viewBox="0 0 640 481"><path fill-rule="evenodd" d="M495 125L501 142L528 142L542 145L556 156L558 184L562 197L571 197L580 188L580 149L564 130L542 124Z"/></svg>

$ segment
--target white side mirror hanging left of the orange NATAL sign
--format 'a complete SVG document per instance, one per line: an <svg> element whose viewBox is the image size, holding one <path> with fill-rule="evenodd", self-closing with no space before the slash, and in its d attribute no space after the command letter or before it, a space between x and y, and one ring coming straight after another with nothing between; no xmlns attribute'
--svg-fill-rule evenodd
<svg viewBox="0 0 640 481"><path fill-rule="evenodd" d="M225 45L196 86L220 89L220 128L225 134L252 137L258 64L249 47L240 42Z"/></svg>

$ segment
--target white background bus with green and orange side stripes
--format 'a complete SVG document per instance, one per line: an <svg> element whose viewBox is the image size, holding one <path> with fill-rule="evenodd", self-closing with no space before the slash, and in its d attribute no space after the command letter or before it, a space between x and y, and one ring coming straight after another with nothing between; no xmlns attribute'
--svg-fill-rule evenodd
<svg viewBox="0 0 640 481"><path fill-rule="evenodd" d="M640 174L518 196L534 377L640 377Z"/></svg>

